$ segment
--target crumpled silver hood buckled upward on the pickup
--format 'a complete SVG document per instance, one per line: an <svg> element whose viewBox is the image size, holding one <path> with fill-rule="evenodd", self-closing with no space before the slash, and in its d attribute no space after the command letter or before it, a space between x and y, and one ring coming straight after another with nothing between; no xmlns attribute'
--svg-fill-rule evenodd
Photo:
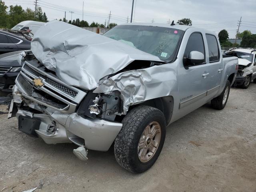
<svg viewBox="0 0 256 192"><path fill-rule="evenodd" d="M162 62L157 56L123 42L57 20L47 22L31 42L34 56L60 80L84 90L134 60Z"/></svg>

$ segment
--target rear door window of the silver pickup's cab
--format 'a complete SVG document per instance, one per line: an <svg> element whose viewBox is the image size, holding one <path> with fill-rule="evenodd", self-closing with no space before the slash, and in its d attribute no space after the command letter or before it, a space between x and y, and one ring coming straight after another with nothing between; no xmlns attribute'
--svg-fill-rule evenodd
<svg viewBox="0 0 256 192"><path fill-rule="evenodd" d="M218 42L214 35L206 34L206 40L209 50L209 61L216 62L220 60Z"/></svg>

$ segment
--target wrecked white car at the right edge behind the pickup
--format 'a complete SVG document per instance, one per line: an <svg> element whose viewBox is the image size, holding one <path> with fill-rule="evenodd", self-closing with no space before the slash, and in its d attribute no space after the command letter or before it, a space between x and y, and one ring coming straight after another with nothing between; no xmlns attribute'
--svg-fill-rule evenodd
<svg viewBox="0 0 256 192"><path fill-rule="evenodd" d="M227 55L238 57L238 72L236 86L247 89L253 80L256 83L256 49L234 48L229 50Z"/></svg>

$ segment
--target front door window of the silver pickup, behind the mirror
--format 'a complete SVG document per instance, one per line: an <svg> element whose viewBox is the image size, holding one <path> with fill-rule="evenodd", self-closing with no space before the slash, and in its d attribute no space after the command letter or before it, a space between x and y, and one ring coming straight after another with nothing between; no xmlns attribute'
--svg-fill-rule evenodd
<svg viewBox="0 0 256 192"><path fill-rule="evenodd" d="M184 57L188 58L191 51L199 51L205 56L204 40L201 33L192 33L188 39L188 43L184 52Z"/></svg>

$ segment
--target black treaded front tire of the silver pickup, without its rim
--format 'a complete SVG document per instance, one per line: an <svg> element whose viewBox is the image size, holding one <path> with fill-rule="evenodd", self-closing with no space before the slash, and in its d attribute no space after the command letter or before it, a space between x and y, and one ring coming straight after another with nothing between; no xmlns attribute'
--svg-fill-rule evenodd
<svg viewBox="0 0 256 192"><path fill-rule="evenodd" d="M144 129L150 122L159 122L161 139L154 156L146 163L138 157L138 143ZM122 129L114 142L116 161L126 170L142 173L148 170L157 160L164 145L166 135L166 120L164 114L150 106L138 106L130 110L122 120Z"/></svg>

